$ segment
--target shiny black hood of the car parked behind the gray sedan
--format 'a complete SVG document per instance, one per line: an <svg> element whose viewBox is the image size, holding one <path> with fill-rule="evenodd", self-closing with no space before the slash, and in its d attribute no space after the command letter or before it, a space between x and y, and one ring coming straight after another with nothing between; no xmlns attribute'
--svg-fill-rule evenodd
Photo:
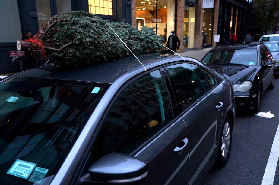
<svg viewBox="0 0 279 185"><path fill-rule="evenodd" d="M258 68L255 65L209 65L209 67L218 73L228 75L233 83L249 80Z"/></svg>

